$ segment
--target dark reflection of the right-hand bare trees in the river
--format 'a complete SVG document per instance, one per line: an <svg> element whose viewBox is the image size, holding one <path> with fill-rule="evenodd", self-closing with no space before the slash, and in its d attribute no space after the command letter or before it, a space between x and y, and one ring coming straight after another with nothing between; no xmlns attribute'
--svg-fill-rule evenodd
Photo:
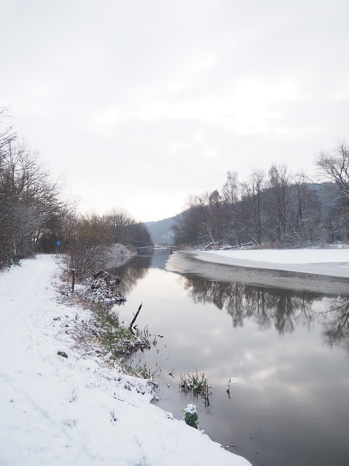
<svg viewBox="0 0 349 466"><path fill-rule="evenodd" d="M219 309L224 308L232 317L234 327L242 327L246 318L253 318L259 330L267 330L274 325L281 335L293 333L298 325L311 327L319 316L314 303L325 299L323 295L311 292L213 282L195 275L182 275L180 282L194 302L212 303ZM344 338L349 340L349 299L331 299L335 301L331 301L326 312L327 329L324 334L333 345ZM328 322L330 316L332 320Z"/></svg>

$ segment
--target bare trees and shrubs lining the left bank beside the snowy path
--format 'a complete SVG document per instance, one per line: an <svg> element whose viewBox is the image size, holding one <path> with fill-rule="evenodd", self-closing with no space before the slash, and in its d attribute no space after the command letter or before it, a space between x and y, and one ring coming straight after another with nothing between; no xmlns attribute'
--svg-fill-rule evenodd
<svg viewBox="0 0 349 466"><path fill-rule="evenodd" d="M0 124L5 117L7 109L0 107ZM36 252L55 252L60 241L68 268L79 277L97 265L112 243L152 245L145 224L126 211L79 214L63 188L11 127L0 131L0 268Z"/></svg>

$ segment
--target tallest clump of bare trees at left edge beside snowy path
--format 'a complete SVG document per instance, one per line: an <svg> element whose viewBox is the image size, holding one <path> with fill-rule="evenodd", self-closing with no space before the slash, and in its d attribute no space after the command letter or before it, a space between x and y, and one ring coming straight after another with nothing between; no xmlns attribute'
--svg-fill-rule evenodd
<svg viewBox="0 0 349 466"><path fill-rule="evenodd" d="M0 254L1 262L17 262L37 249L49 219L66 202L58 181L24 141L10 139L1 147Z"/></svg>

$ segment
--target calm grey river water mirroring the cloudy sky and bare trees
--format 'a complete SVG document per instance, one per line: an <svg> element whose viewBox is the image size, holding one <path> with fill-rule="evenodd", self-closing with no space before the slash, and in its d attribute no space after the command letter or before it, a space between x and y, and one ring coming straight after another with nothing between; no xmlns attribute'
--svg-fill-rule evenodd
<svg viewBox="0 0 349 466"><path fill-rule="evenodd" d="M133 357L157 371L157 404L182 418L180 373L205 372L199 427L258 466L349 464L349 280L245 269L190 254L110 266L118 308L157 346ZM173 370L173 376L169 373ZM226 392L229 379L230 398Z"/></svg>

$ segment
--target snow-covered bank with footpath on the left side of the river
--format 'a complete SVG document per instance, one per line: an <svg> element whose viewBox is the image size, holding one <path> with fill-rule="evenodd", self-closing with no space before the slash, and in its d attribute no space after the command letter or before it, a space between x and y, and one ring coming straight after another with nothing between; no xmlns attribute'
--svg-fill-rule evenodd
<svg viewBox="0 0 349 466"><path fill-rule="evenodd" d="M89 312L57 283L51 256L0 273L0 465L249 465L150 404L145 381L81 352L73 329Z"/></svg>

